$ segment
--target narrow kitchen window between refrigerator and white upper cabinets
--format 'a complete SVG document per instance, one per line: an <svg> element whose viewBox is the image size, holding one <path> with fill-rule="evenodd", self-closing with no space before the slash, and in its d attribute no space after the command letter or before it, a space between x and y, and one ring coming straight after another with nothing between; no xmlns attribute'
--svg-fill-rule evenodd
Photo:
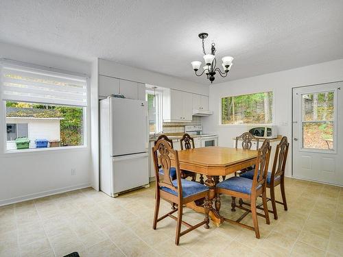
<svg viewBox="0 0 343 257"><path fill-rule="evenodd" d="M145 91L145 101L148 106L149 132L162 131L162 93L157 90L147 89Z"/></svg>

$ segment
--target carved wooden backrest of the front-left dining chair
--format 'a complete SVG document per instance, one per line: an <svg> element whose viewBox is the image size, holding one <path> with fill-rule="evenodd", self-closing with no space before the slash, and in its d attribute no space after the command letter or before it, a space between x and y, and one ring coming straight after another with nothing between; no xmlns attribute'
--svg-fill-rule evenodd
<svg viewBox="0 0 343 257"><path fill-rule="evenodd" d="M156 175L156 183L158 184L158 188L162 186L167 187L173 191L178 192L178 196L182 197L182 186L181 186L181 176L180 176L180 164L178 162L178 151L174 150L170 143L165 139L157 140L154 147L152 147L152 156L154 158L154 168L155 168L155 175ZM171 182L170 176L170 169L171 169L171 156L174 157L175 160L175 169L176 169L176 180L177 180L177 188ZM160 169L159 164L161 164L161 168L163 169L163 176L161 176L158 171Z"/></svg>

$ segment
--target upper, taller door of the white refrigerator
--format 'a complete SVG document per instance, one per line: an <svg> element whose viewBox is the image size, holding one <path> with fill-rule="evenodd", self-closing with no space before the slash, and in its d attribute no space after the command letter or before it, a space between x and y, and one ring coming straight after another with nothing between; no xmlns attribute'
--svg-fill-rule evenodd
<svg viewBox="0 0 343 257"><path fill-rule="evenodd" d="M147 102L110 98L110 155L137 154L147 151Z"/></svg>

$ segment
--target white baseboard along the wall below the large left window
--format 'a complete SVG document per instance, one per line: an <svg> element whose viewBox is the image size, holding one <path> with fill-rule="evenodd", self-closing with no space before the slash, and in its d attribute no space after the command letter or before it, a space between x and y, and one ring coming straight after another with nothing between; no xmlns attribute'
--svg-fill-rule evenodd
<svg viewBox="0 0 343 257"><path fill-rule="evenodd" d="M33 194L29 194L29 195L23 195L23 196L13 197L13 198L9 198L9 199L3 199L3 200L0 200L0 206L5 206L8 204L16 204L16 203L19 203L21 201L28 201L28 200L37 199L40 197L49 196L49 195L57 195L60 193L78 190L78 189L86 188L89 186L91 186L91 183L83 183L83 184L77 184L74 186L66 186L66 187L62 187L62 188L51 189L48 191L33 193Z"/></svg>

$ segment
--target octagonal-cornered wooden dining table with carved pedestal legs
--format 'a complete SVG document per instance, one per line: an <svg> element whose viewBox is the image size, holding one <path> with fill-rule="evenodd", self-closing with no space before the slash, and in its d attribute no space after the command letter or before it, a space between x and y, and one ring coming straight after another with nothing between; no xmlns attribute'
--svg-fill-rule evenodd
<svg viewBox="0 0 343 257"><path fill-rule="evenodd" d="M181 170L206 175L204 184L209 186L209 216L213 223L219 226L224 222L224 218L220 216L220 196L215 195L215 184L219 182L220 176L230 175L254 165L257 159L257 151L228 147L201 147L178 151L178 159ZM171 162L175 165L173 158L171 158ZM191 202L186 206L204 213L204 207L200 203Z"/></svg>

